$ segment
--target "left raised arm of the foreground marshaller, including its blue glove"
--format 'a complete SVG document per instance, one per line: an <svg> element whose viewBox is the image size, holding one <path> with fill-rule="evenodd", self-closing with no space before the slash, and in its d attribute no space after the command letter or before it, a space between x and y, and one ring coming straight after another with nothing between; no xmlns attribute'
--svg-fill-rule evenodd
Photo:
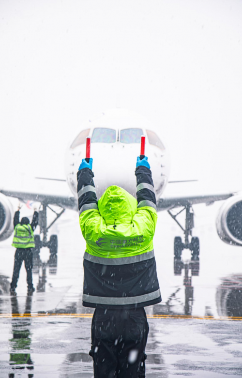
<svg viewBox="0 0 242 378"><path fill-rule="evenodd" d="M90 227L92 231L95 227L98 229L102 219L98 211L97 195L93 181L94 174L91 168L92 158L90 158L89 163L83 159L77 172L79 222L85 239L88 238Z"/></svg>

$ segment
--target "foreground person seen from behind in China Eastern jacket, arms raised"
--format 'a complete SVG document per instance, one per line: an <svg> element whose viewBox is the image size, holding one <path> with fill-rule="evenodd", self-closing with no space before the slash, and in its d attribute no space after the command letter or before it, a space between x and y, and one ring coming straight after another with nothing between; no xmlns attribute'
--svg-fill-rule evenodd
<svg viewBox="0 0 242 378"><path fill-rule="evenodd" d="M87 242L83 306L95 307L95 378L145 377L149 332L144 306L161 302L153 251L156 200L147 157L137 158L137 200L109 186L97 200L92 159L77 172L79 222Z"/></svg>

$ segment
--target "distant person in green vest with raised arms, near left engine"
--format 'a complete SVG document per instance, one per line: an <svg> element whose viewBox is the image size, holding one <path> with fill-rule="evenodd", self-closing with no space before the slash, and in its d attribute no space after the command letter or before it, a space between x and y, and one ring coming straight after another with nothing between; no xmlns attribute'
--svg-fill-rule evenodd
<svg viewBox="0 0 242 378"><path fill-rule="evenodd" d="M17 248L15 252L15 265L13 272L13 279L11 282L10 294L16 295L15 288L17 287L17 281L19 277L20 268L24 260L25 269L27 272L27 284L28 295L31 295L35 291L32 283L32 265L33 254L32 248L35 247L33 231L38 225L39 213L34 212L32 223L27 217L23 217L19 222L20 212L15 212L14 216L14 240L13 247Z"/></svg>

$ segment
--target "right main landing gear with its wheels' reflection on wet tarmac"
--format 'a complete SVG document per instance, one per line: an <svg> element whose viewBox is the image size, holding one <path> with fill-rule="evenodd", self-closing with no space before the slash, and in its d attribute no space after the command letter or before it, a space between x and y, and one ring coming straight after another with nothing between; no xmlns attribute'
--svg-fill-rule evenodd
<svg viewBox="0 0 242 378"><path fill-rule="evenodd" d="M181 212L186 211L186 220L185 220L185 228L181 226L181 224L176 219ZM174 221L181 227L182 231L185 235L184 243L181 240L180 236L176 236L174 239L174 274L181 275L181 270L184 268L184 264L181 260L181 254L183 249L190 249L192 252L191 261L189 263L189 268L191 269L192 275L199 274L199 239L197 237L192 236L192 229L194 228L194 212L191 205L185 206L180 212L177 214L172 214L168 210L168 214L174 219ZM191 237L191 242L189 242L189 238Z"/></svg>

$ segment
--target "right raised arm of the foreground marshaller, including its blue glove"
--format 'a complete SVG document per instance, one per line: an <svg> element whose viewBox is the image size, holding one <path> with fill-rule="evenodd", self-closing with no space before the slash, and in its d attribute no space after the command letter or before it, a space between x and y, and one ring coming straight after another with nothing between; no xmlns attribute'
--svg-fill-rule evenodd
<svg viewBox="0 0 242 378"><path fill-rule="evenodd" d="M156 199L150 164L148 163L147 157L142 160L137 157L135 174L137 180L136 195L138 205L137 214L134 216L133 222L138 222L138 219L142 217L147 227L150 228L151 233L154 234L157 222Z"/></svg>

